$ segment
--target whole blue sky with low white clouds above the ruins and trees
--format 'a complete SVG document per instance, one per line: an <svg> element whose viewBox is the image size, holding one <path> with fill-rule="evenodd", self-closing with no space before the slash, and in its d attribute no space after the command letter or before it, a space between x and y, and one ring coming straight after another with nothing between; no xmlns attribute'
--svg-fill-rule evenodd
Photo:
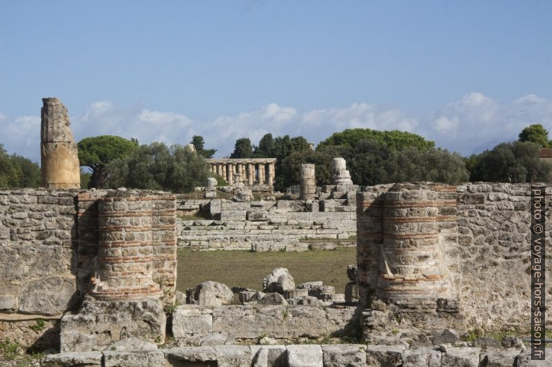
<svg viewBox="0 0 552 367"><path fill-rule="evenodd" d="M405 130L462 155L552 137L552 1L0 0L0 144L40 161L41 99L96 135L217 157L266 133Z"/></svg>

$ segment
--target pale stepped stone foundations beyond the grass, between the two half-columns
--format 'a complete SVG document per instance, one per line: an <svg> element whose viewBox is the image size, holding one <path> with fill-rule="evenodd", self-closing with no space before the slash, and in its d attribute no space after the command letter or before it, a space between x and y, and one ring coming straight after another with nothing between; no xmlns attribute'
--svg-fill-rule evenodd
<svg viewBox="0 0 552 367"><path fill-rule="evenodd" d="M304 251L355 245L355 191L335 187L320 189L317 200L184 200L178 210L206 218L179 220L178 245L193 250Z"/></svg>

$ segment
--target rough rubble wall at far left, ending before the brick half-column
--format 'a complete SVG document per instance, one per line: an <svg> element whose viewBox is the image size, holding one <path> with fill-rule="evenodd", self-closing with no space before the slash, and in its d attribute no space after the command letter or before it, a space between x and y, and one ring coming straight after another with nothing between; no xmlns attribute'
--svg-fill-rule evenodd
<svg viewBox="0 0 552 367"><path fill-rule="evenodd" d="M0 319L59 316L74 306L77 194L0 191Z"/></svg>

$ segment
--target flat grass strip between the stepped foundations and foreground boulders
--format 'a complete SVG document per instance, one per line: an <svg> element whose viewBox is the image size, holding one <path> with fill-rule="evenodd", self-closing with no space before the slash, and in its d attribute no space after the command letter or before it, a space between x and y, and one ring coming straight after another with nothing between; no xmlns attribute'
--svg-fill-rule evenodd
<svg viewBox="0 0 552 367"><path fill-rule="evenodd" d="M356 264L356 248L304 253L250 253L247 251L179 250L177 289L195 287L214 280L228 287L262 289L263 278L273 268L288 268L295 284L322 280L343 293L348 282L347 265Z"/></svg>

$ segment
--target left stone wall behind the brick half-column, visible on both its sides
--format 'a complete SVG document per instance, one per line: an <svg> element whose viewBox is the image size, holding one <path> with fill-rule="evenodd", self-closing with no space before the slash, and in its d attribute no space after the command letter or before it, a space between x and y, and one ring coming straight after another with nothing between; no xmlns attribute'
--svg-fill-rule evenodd
<svg viewBox="0 0 552 367"><path fill-rule="evenodd" d="M113 191L0 191L0 320L59 318L90 288L100 241L98 202ZM133 191L147 198L153 191ZM151 203L153 280L174 300L174 196Z"/></svg>

